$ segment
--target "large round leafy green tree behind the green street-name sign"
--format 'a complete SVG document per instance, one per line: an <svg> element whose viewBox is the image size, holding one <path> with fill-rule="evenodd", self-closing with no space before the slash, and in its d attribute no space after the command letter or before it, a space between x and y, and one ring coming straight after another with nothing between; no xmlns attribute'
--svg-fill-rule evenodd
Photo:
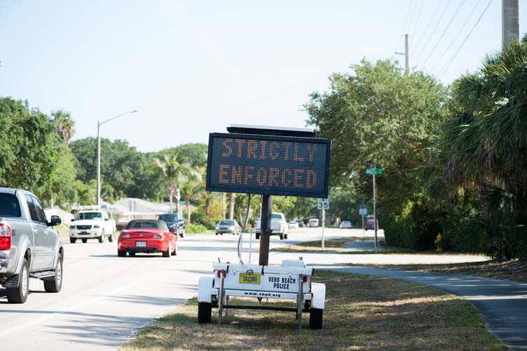
<svg viewBox="0 0 527 351"><path fill-rule="evenodd" d="M418 169L431 162L429 148L448 119L448 90L425 73L401 73L391 60L363 60L351 68L331 76L330 91L311 95L308 123L333 140L333 187L354 187L369 199L371 176L364 169L383 168L378 208L387 224L394 223L408 204L429 202ZM395 234L385 233L388 240Z"/></svg>

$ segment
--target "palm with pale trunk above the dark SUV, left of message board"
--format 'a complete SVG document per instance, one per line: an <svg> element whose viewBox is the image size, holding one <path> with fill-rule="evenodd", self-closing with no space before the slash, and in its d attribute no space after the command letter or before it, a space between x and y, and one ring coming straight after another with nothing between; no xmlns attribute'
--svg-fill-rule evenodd
<svg viewBox="0 0 527 351"><path fill-rule="evenodd" d="M198 176L194 171L187 157L180 153L164 154L161 158L154 158L152 171L159 171L168 183L168 197L170 198L170 208L173 211L173 198L175 194L175 212L180 213L180 180Z"/></svg>

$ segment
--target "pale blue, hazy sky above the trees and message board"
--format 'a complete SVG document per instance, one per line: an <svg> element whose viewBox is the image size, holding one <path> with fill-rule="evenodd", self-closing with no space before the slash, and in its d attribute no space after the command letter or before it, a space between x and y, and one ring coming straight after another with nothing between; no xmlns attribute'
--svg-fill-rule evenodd
<svg viewBox="0 0 527 351"><path fill-rule="evenodd" d="M0 0L0 96L71 112L75 138L138 110L101 134L144 152L207 143L229 124L302 127L333 72L403 63L405 33L411 67L444 84L474 71L501 46L500 0L443 67L488 1ZM520 1L521 34L526 19Z"/></svg>

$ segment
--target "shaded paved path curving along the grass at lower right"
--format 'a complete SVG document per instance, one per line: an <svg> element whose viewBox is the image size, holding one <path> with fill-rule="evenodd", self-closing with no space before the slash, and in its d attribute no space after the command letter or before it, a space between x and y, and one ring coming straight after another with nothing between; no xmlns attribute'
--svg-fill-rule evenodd
<svg viewBox="0 0 527 351"><path fill-rule="evenodd" d="M527 283L371 267L312 265L319 270L369 274L434 286L469 300L486 322L488 331L513 351L527 350Z"/></svg>

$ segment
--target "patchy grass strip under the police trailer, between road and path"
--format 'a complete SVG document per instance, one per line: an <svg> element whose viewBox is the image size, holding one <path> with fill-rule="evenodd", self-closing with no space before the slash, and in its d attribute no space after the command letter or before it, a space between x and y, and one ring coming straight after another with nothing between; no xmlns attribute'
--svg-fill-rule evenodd
<svg viewBox="0 0 527 351"><path fill-rule="evenodd" d="M196 299L145 326L123 350L507 350L472 305L428 286L384 277L317 271L326 283L323 329L303 314L231 310L218 326L197 323ZM258 303L237 299L230 303Z"/></svg>

